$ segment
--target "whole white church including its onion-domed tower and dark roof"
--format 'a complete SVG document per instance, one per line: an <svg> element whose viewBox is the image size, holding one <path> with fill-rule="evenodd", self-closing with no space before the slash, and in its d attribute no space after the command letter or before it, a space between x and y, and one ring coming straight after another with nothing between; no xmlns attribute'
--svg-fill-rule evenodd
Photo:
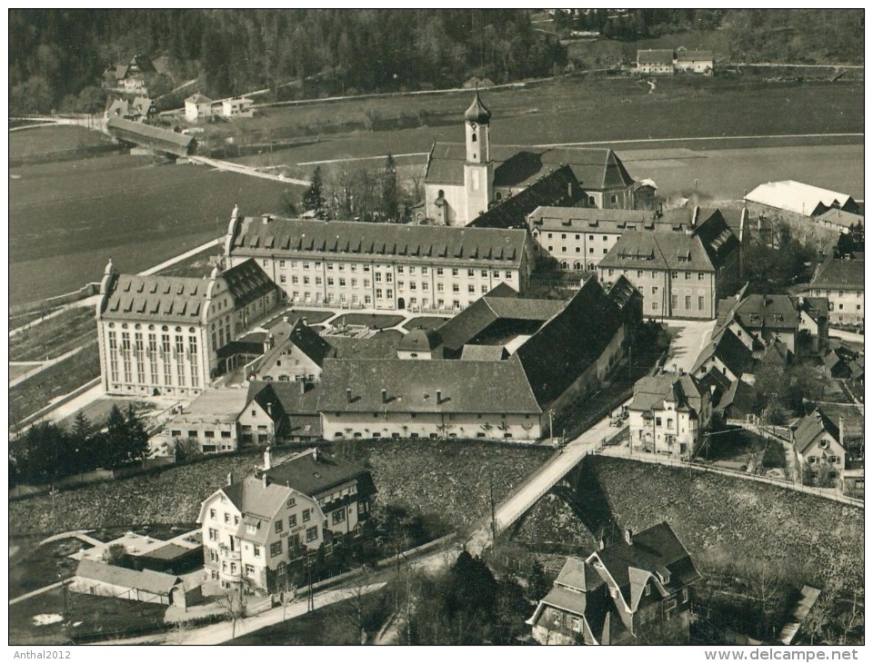
<svg viewBox="0 0 873 663"><path fill-rule="evenodd" d="M425 215L436 223L463 226L485 215L477 225L517 227L538 205L633 205L634 179L610 149L492 145L491 112L478 93L464 127L465 143L434 143L427 156ZM502 209L489 216L495 204Z"/></svg>

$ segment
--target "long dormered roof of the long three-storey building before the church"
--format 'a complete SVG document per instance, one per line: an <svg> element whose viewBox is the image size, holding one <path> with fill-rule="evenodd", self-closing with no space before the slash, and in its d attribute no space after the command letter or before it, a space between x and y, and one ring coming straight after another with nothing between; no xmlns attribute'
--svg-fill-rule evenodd
<svg viewBox="0 0 873 663"><path fill-rule="evenodd" d="M236 235L231 252L247 256L312 255L329 260L433 262L443 259L465 264L507 262L518 265L527 242L527 231L497 228L306 221L247 217Z"/></svg>

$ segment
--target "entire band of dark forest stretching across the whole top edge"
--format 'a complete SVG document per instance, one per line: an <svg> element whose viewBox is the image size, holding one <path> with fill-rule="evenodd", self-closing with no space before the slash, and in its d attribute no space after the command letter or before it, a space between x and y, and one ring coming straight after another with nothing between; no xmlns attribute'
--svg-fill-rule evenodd
<svg viewBox="0 0 873 663"><path fill-rule="evenodd" d="M524 9L13 9L10 109L89 110L102 101L106 69L134 54L168 57L172 75L160 92L198 79L216 97L429 89L471 76L505 83L563 71L562 38L577 30L603 35L600 44L724 35L728 52L719 57L748 62L864 57L862 9L577 10L553 20ZM302 83L280 87L295 80Z"/></svg>

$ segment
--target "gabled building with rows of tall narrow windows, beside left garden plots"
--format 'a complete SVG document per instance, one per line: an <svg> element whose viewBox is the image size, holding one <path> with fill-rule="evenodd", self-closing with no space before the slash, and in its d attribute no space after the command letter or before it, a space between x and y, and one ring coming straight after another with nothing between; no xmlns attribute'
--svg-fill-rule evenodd
<svg viewBox="0 0 873 663"><path fill-rule="evenodd" d="M104 390L196 396L226 370L221 350L243 331L237 301L254 317L282 298L254 263L195 279L119 274L108 262L95 311Z"/></svg>

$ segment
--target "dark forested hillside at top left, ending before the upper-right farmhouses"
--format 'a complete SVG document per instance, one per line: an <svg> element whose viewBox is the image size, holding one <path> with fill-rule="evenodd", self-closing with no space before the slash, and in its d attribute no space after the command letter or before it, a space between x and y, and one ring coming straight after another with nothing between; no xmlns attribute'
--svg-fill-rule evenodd
<svg viewBox="0 0 873 663"><path fill-rule="evenodd" d="M447 87L471 75L505 82L566 63L526 10L12 10L10 105L69 105L133 54L167 54L176 82L213 96L315 76L310 92Z"/></svg>

